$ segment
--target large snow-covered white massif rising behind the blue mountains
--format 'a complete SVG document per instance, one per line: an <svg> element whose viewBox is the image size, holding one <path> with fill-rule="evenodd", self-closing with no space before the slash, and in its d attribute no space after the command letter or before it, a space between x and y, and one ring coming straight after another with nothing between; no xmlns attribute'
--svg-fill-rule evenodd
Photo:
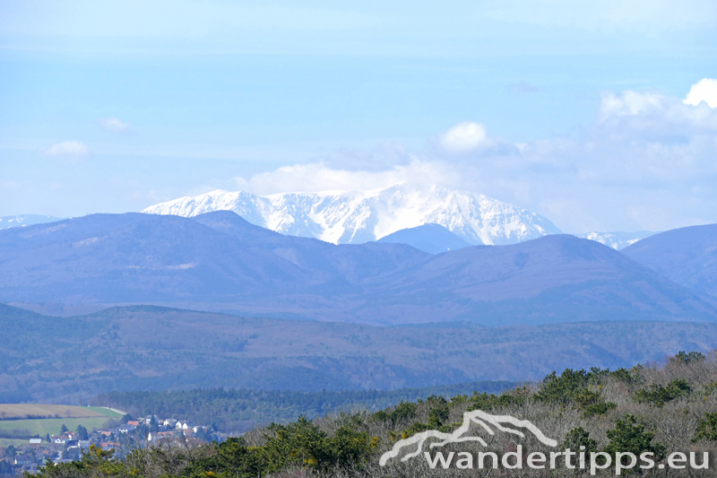
<svg viewBox="0 0 717 478"><path fill-rule="evenodd" d="M397 230L436 223L470 244L514 244L560 230L538 213L488 196L446 187L401 183L373 191L282 193L246 191L180 197L143 213L194 217L229 210L246 221L290 236L360 244Z"/></svg>

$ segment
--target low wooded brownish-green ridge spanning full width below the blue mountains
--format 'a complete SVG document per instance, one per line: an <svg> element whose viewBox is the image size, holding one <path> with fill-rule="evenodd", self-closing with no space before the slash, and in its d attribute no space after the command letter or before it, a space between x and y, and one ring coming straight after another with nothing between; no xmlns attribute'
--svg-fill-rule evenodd
<svg viewBox="0 0 717 478"><path fill-rule="evenodd" d="M0 306L0 330L5 403L77 403L108 390L319 392L524 381L570 366L629 368L717 348L715 324L372 327L151 306L83 317Z"/></svg>

